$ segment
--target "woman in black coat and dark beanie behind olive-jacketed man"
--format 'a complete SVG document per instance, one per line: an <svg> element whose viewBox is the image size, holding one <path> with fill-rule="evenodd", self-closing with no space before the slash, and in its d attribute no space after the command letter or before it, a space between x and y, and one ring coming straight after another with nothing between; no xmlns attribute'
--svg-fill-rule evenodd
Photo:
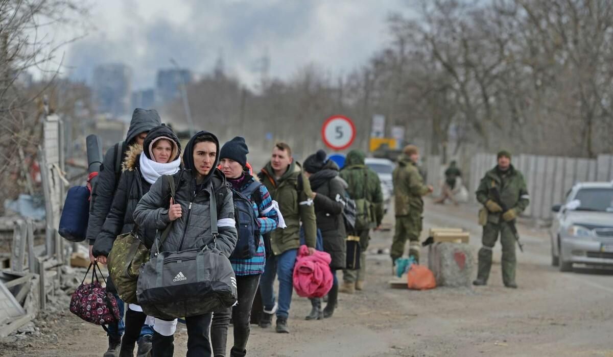
<svg viewBox="0 0 613 357"><path fill-rule="evenodd" d="M338 280L336 271L345 269L346 242L345 219L345 190L347 183L338 176L338 165L332 160L326 160L326 152L319 150L305 160L303 168L313 190L313 202L317 228L321 230L324 238L324 252L330 254L332 262L332 276L334 277L332 289L328 293L328 304L321 310L321 299L311 299L313 309L307 320L316 320L331 317L338 301Z"/></svg>

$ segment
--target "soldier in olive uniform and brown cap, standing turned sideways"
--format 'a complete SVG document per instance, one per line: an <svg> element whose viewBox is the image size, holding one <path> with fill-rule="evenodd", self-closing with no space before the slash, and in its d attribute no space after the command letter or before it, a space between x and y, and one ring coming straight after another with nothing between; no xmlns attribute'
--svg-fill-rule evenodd
<svg viewBox="0 0 613 357"><path fill-rule="evenodd" d="M409 256L419 261L419 250L421 249L419 235L422 230L422 213L424 212L422 197L432 193L433 187L424 184L424 179L417 167L418 160L417 146L405 146L403 154L398 158L398 167L392 174L396 210L396 228L390 252L392 266L397 258L402 257L407 239Z"/></svg>

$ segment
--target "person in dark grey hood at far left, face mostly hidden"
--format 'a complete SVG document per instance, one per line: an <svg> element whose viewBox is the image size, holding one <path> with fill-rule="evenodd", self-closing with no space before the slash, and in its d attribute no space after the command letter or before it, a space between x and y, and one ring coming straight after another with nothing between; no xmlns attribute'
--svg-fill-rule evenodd
<svg viewBox="0 0 613 357"><path fill-rule="evenodd" d="M89 239L89 260L94 261L92 248L97 236L102 231L104 221L109 215L121 176L121 163L126 152L130 151L132 146L142 146L147 133L160 124L162 124L162 121L158 111L136 108L134 113L132 113L132 121L130 122L126 140L113 145L104 155L97 182L91 192L91 202L89 203L89 221L86 235L86 238ZM108 287L109 290L113 291L114 287L112 284L109 285L111 285ZM121 335L124 331L124 304L116 294L115 298L119 304L122 318L117 326L109 325L109 348L104 353L104 357L119 356ZM151 349L151 336L153 336L153 331L149 326L144 325L139 339L139 357L142 355L140 352L146 351L148 353Z"/></svg>

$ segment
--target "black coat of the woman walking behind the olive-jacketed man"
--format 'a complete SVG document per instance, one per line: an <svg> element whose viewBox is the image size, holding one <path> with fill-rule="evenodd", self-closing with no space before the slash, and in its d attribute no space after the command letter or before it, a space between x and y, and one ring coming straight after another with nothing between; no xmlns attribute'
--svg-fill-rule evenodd
<svg viewBox="0 0 613 357"><path fill-rule="evenodd" d="M309 178L314 198L317 228L324 238L324 252L330 254L332 269L345 269L347 233L343 209L347 183L338 176L338 165L328 160Z"/></svg>

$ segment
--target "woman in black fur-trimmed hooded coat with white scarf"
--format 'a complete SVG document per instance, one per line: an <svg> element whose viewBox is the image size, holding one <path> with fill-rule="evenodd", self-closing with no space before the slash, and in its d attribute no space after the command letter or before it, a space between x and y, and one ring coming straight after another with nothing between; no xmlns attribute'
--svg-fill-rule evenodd
<svg viewBox="0 0 613 357"><path fill-rule="evenodd" d="M113 204L102 231L98 235L92 254L101 263L106 264L107 257L113 248L113 242L118 235L129 233L135 229L132 214L140 198L149 192L151 185L162 175L173 175L181 167L181 144L177 135L169 127L162 124L154 127L147 134L143 146L133 145L126 152L122 163L121 178L113 197ZM154 227L139 227L139 236L144 238L145 245L151 249L156 235ZM109 280L109 283L110 280ZM109 284L112 285L112 284ZM132 356L134 345L142 334L151 336L151 328L142 328L147 315L140 306L129 304L126 310L126 328L121 339L121 356ZM142 329L141 329L142 328ZM148 331L143 333L143 331ZM147 347L151 349L151 337ZM139 353L142 352L139 340Z"/></svg>

